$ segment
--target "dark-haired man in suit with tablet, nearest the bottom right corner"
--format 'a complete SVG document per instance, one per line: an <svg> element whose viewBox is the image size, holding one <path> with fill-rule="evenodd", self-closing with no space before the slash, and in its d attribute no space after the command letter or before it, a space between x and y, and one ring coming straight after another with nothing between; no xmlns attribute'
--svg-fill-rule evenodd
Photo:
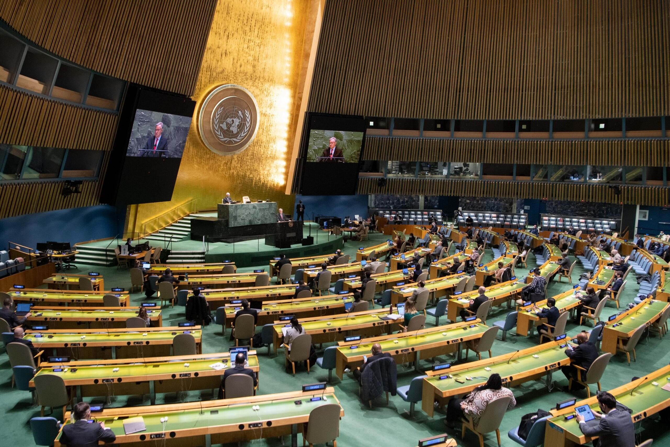
<svg viewBox="0 0 670 447"><path fill-rule="evenodd" d="M635 447L635 428L628 411L616 409L616 399L610 393L598 393L600 411L593 411L598 424L587 424L584 416L577 414L580 430L586 436L600 436L598 447ZM596 442L594 442L594 447Z"/></svg>

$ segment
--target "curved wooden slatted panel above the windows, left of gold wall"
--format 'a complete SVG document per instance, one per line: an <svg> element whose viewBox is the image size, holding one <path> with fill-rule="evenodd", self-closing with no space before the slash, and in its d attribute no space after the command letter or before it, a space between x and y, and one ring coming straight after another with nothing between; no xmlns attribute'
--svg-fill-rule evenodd
<svg viewBox="0 0 670 447"><path fill-rule="evenodd" d="M216 0L0 2L19 34L109 76L192 95Z"/></svg>

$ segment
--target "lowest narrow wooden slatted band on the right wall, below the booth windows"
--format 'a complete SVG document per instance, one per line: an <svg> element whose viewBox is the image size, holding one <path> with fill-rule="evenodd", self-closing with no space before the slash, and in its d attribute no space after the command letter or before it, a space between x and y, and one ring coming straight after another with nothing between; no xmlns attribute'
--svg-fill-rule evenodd
<svg viewBox="0 0 670 447"><path fill-rule="evenodd" d="M387 179L380 187L378 179L359 179L358 194L452 195L474 197L525 197L625 203L653 206L670 204L670 189L664 187L620 186L620 195L607 185L574 185L560 183L523 183L512 181Z"/></svg>

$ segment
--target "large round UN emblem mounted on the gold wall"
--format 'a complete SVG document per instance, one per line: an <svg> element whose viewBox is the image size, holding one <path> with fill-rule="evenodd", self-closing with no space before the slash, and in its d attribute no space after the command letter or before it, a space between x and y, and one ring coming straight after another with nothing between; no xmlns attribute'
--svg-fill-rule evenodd
<svg viewBox="0 0 670 447"><path fill-rule="evenodd" d="M256 137L258 118L258 104L249 90L233 84L216 87L200 107L200 138L212 152L238 154Z"/></svg>

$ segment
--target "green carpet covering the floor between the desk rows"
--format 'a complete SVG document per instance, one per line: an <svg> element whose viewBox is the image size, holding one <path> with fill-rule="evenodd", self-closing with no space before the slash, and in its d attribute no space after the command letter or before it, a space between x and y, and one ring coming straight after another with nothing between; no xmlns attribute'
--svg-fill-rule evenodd
<svg viewBox="0 0 670 447"><path fill-rule="evenodd" d="M355 242L349 241L344 243L344 252L351 254L355 258L356 249L362 245L379 244L386 240L387 236L381 234L371 234L369 242ZM574 260L570 256L571 260ZM484 262L492 259L490 250L486 250ZM80 262L78 262L79 264ZM528 266L533 268L535 266L535 258L532 254L528 256ZM259 264L259 268L267 267L267 262ZM86 270L86 267L80 270ZM126 287L130 285L129 274L125 270L117 270L116 267L100 268L96 267L103 273L105 277L105 286L107 289L111 287ZM253 267L240 268L238 271L250 271ZM580 262L576 264L573 272L573 279L579 278L582 273L582 266ZM523 277L527 273L524 268L517 268L517 277ZM623 308L628 303L632 302L636 296L637 285L634 281L634 275L628 277L628 288L620 302ZM565 280L563 283L551 283L549 285L549 295L556 295L572 287ZM143 297L142 293L135 293L131 295L131 302L137 305ZM494 307L489 317L488 324L491 325L494 321L505 319L507 307ZM601 317L605 319L608 315L616 313L616 306L614 303L606 305ZM182 307L167 309L163 317L163 325L168 326L176 321L184 320L184 309ZM446 320L442 320L446 321ZM434 319L429 318L427 324L431 325ZM568 334L574 335L582 329L590 329L588 327L579 327L574 322L570 321L567 325ZM515 350L527 348L537 344L536 337L525 338L513 334L513 331L507 335L507 341L502 342L496 340L493 345L493 355L505 354ZM221 335L220 326L211 325L204 328L203 334L204 349L203 352L220 352L226 351L230 342L228 336ZM628 381L634 376L643 377L645 373L651 372L662 366L665 366L670 361L670 352L667 348L661 346L662 342L659 338L649 338L649 340L642 340L641 344L636 349L637 362L632 362L630 366L626 363L624 355L620 354L614 356L610 360L610 364L601 381L604 390L618 387ZM325 348L325 345L324 345ZM470 360L476 359L476 356L470 355ZM267 356L267 348L259 350L259 360L261 362L261 388L259 394L278 393L282 391L295 391L300 389L304 383L314 383L316 381L325 381L328 378L328 372L315 366L312 372L308 374L303 368L298 368L295 378L284 372L283 368L283 353L279 352L277 356ZM445 361L446 358L438 358L438 360ZM421 368L429 368L429 363L421 362ZM417 373L413 368L398 367L398 386L409 385L409 382ZM417 404L417 412L415 417L409 418L405 415L405 411L409 411L409 403L405 403L400 397L391 397L387 405L385 399L380 397L373 403L373 409L369 409L366 403L358 399L358 385L350 375L344 377L344 380L339 381L333 375L333 386L335 392L344 407L344 417L340 423L340 437L338 438L338 445L340 446L376 446L377 442L389 442L389 446L416 446L417 440L427 436L433 436L447 432L451 437L456 438L459 446L478 446L478 440L474 434L466 434L465 440L460 438L460 430L447 429L442 420L444 415L441 412L435 414L435 417L429 419L425 413L421 411L421 403ZM521 387L513 388L515 397L517 399L517 407L507 411L505 418L500 426L501 440L503 446L515 446L515 442L507 437L507 431L519 424L521 416L525 413L537 411L538 408L550 409L555 407L559 401L564 401L570 397L569 394L560 391L562 385L567 385L567 380L560 372L553 375L554 381L557 382L557 387L551 393L547 391L544 379L542 381L535 381L525 383ZM595 387L592 387L595 388ZM34 446L32 437L30 436L30 428L28 421L31 417L39 415L39 407L31 405L31 398L29 393L25 391L17 391L11 389L11 370L9 368L9 360L6 354L0 355L0 390L2 399L0 402L0 418L4 421L3 430L5 439L13 439L19 446ZM189 401L197 401L198 399L210 399L210 392L200 393L191 392L185 398ZM576 393L579 399L586 398L586 392ZM174 394L158 395L157 403L174 403L176 397ZM98 399L103 401L104 398ZM114 397L112 405L121 407L124 405L142 405L141 397ZM144 405L148 405L148 400ZM61 419L60 410L56 410L54 415ZM668 445L670 444L670 434L663 427L663 424L654 424L655 417L643 421L642 424L636 424L636 428L640 433L639 442L647 438L655 438L654 445ZM389 433L388 430L391 430ZM393 439L393 440L391 440ZM495 434L488 434L485 436L486 446L495 446ZM302 443L302 440L299 440ZM0 443L3 444L3 443ZM243 443L245 444L245 443ZM251 445L252 443L247 443ZM283 439L269 439L264 441L256 441L254 445L290 445L290 439L285 437ZM4 444L4 445L9 445ZM245 444L246 445L246 444ZM300 444L299 444L300 445Z"/></svg>

